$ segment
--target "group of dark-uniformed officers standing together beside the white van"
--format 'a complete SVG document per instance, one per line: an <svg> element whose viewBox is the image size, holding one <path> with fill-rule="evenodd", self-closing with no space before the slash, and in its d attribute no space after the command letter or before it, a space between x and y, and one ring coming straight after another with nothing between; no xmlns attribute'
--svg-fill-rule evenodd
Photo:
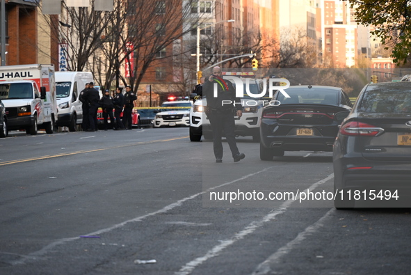
<svg viewBox="0 0 411 275"><path fill-rule="evenodd" d="M136 94L131 91L129 85L126 86L124 95L122 94L122 88L118 87L115 89L114 97L110 95L110 91L106 90L100 99L99 91L94 88L94 83L87 83L86 88L80 92L79 96L79 100L83 103L83 124L81 127L87 132L97 131L97 110L102 107L104 130L108 129L108 118L110 118L111 127L115 130L132 129L131 116L134 107L133 102L136 99ZM122 112L123 119L120 117Z"/></svg>

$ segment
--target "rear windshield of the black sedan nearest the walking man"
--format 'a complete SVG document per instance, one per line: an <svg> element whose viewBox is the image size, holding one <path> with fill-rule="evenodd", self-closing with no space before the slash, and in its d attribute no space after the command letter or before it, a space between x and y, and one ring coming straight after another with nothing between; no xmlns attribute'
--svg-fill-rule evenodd
<svg viewBox="0 0 411 275"><path fill-rule="evenodd" d="M290 97L277 92L277 99L281 104L339 104L339 91L326 88L293 88L286 89Z"/></svg>

